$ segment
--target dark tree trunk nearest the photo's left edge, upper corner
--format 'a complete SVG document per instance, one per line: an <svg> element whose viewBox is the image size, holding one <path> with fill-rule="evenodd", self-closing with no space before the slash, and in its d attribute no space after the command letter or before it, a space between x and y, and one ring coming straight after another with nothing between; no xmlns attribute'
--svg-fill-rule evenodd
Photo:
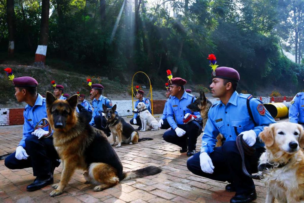
<svg viewBox="0 0 304 203"><path fill-rule="evenodd" d="M7 24L9 27L9 57L14 57L14 35L15 35L15 5L14 0L6 1Z"/></svg>

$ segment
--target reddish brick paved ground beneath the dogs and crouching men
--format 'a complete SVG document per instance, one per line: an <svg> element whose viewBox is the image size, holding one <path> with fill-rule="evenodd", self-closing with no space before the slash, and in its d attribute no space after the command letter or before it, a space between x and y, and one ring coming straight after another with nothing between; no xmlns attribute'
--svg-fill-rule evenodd
<svg viewBox="0 0 304 203"><path fill-rule="evenodd" d="M32 169L9 170L4 166L4 160L1 160L0 202L229 202L233 193L225 191L226 183L205 179L189 172L186 153L181 154L178 146L164 142L163 133L164 130L140 131L140 137L151 137L154 140L114 148L123 163L124 171L153 165L161 167L162 173L122 181L101 192L94 192L94 186L85 184L80 170L72 176L60 196L49 197L52 191L50 186L27 192L26 186L34 180ZM0 127L0 156L13 152L21 136L20 125ZM112 136L109 140L112 141ZM201 136L198 138L197 150L200 145ZM59 182L61 171L62 164L54 172L54 183ZM264 202L265 188L258 181L255 181L255 184L258 196L255 202Z"/></svg>

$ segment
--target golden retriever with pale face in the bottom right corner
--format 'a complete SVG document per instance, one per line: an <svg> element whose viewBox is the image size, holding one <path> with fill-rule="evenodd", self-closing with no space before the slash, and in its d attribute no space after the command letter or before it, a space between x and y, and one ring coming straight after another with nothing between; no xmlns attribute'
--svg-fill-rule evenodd
<svg viewBox="0 0 304 203"><path fill-rule="evenodd" d="M265 127L259 134L266 151L259 164L273 165L266 170L266 203L304 202L304 130L299 124L281 122Z"/></svg>

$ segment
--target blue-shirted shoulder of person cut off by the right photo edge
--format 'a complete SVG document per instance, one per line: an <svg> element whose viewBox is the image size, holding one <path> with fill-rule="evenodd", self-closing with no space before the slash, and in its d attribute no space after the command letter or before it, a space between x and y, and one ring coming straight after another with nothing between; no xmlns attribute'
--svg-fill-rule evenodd
<svg viewBox="0 0 304 203"><path fill-rule="evenodd" d="M299 92L290 102L289 122L304 125L304 93Z"/></svg>

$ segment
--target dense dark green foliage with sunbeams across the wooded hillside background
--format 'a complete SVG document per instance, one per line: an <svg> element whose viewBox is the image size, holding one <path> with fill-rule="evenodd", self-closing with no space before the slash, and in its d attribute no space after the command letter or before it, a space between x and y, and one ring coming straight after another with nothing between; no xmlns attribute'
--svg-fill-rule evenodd
<svg viewBox="0 0 304 203"><path fill-rule="evenodd" d="M281 45L292 35L284 24L289 15L282 10L303 0L105 2L102 16L96 0L51 0L47 65L54 59L73 61L74 69L84 74L125 83L123 75L144 71L154 87L163 86L165 71L171 69L173 76L208 86L211 68L206 58L214 53L220 66L240 72L241 90L254 93L267 84L293 92L304 88L303 65L287 59ZM41 0L15 0L16 53L34 57L40 7ZM3 52L8 46L5 9L5 1L0 0Z"/></svg>

